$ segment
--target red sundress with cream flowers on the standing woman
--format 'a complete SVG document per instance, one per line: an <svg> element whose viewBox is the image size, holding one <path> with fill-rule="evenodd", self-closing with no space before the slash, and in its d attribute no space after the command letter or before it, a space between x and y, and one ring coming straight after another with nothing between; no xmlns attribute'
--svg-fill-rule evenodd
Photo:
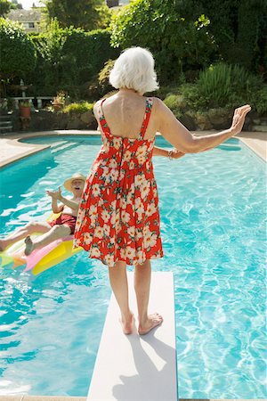
<svg viewBox="0 0 267 401"><path fill-rule="evenodd" d="M111 135L99 106L102 146L86 180L80 203L74 247L108 266L118 260L142 265L162 258L158 191L152 166L155 138L143 137L153 101L146 110L138 138Z"/></svg>

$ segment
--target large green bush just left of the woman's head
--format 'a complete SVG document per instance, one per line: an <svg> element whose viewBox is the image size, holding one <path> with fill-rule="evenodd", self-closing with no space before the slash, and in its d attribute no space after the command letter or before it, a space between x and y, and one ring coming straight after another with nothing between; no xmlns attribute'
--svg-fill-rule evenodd
<svg viewBox="0 0 267 401"><path fill-rule="evenodd" d="M89 87L105 61L117 58L119 53L109 45L107 30L62 29L57 20L33 40L37 68L28 76L28 82L35 84L35 94L53 95L63 89L74 99L85 98L85 83Z"/></svg>

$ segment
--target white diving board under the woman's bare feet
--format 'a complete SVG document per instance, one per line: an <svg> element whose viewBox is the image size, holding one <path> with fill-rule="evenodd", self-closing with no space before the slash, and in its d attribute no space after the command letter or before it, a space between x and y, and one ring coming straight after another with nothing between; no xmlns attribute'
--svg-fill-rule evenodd
<svg viewBox="0 0 267 401"><path fill-rule="evenodd" d="M177 401L173 273L152 273L149 313L164 322L144 336L136 330L134 274L127 274L134 333L123 334L112 294L87 401Z"/></svg>

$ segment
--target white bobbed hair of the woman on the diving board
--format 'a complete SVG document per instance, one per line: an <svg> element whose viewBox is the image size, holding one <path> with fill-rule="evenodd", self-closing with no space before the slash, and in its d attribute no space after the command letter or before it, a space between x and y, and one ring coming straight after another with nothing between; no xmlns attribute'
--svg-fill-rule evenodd
<svg viewBox="0 0 267 401"><path fill-rule="evenodd" d="M109 83L115 87L134 89L144 94L158 89L154 59L149 50L142 47L126 49L115 61L109 74Z"/></svg>

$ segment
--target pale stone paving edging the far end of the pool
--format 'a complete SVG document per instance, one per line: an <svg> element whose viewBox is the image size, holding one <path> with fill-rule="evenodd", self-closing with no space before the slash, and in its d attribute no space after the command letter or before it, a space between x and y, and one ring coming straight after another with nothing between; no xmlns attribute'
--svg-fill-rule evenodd
<svg viewBox="0 0 267 401"><path fill-rule="evenodd" d="M191 131L194 135L211 135L219 131ZM50 148L50 145L36 143L20 142L26 138L35 138L38 136L61 136L61 135L100 135L100 131L96 130L53 130L28 133L12 133L4 135L0 138L1 149L4 149L3 155L0 157L0 168L4 168L17 160L24 159L39 151ZM160 135L160 134L157 134ZM257 156L267 162L267 133L263 132L241 132L239 135L233 136L245 143Z"/></svg>

